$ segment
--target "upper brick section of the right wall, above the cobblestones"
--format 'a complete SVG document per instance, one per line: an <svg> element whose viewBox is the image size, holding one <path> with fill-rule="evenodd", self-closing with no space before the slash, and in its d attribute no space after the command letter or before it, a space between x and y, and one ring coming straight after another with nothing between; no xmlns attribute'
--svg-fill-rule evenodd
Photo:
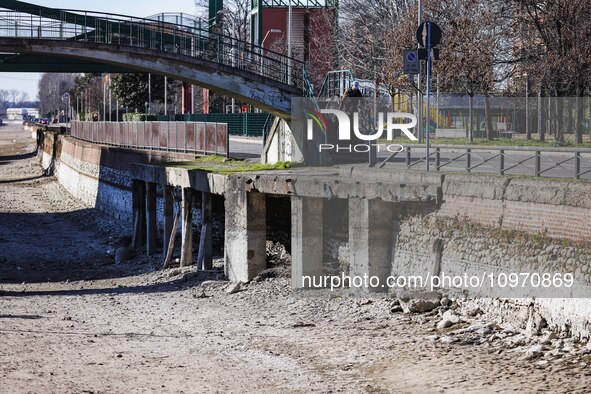
<svg viewBox="0 0 591 394"><path fill-rule="evenodd" d="M446 176L437 215L488 227L591 240L591 184L475 175Z"/></svg>

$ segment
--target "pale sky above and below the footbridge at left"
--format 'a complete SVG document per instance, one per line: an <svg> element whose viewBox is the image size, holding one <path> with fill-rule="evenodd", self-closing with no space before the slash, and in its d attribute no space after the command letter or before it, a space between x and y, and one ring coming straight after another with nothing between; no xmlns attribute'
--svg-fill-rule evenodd
<svg viewBox="0 0 591 394"><path fill-rule="evenodd" d="M146 17L160 12L185 12L195 14L197 9L194 0L25 0L27 3L45 7L85 9L103 11L112 14ZM30 99L37 97L37 83L41 74L38 73L0 73L0 89L24 90Z"/></svg>

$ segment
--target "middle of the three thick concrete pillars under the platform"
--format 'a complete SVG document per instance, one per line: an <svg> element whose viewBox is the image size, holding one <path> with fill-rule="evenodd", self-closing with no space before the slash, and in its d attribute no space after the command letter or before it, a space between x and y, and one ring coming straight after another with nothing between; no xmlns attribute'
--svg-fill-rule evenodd
<svg viewBox="0 0 591 394"><path fill-rule="evenodd" d="M313 277L323 274L323 206L322 198L291 198L291 286L294 289L304 287L304 276L309 276L312 283Z"/></svg>

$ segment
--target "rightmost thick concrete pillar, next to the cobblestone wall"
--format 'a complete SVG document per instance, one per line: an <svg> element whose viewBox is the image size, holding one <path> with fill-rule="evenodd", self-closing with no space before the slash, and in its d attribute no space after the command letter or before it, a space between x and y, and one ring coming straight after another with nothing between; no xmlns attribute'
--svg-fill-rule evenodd
<svg viewBox="0 0 591 394"><path fill-rule="evenodd" d="M386 279L392 265L393 242L400 230L394 203L380 199L349 198L350 275L380 279L379 288L362 288L363 292L387 291Z"/></svg>

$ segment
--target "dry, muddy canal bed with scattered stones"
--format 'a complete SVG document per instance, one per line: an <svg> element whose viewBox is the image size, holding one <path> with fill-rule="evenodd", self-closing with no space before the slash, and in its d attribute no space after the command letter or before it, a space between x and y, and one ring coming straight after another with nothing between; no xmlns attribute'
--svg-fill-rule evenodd
<svg viewBox="0 0 591 394"><path fill-rule="evenodd" d="M141 255L114 264L127 224L44 176L32 142L0 128L0 392L591 390L586 348L532 355L494 322L437 330L443 307L404 314L277 278L228 294Z"/></svg>

